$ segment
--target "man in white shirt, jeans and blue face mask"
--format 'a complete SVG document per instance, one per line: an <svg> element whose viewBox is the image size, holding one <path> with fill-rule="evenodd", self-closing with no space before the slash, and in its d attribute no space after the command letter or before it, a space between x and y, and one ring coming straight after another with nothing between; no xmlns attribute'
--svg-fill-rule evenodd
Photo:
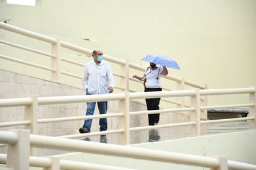
<svg viewBox="0 0 256 170"><path fill-rule="evenodd" d="M85 64L85 71L82 79L86 95L107 94L114 91L114 77L111 67L107 61L103 60L103 51L94 50L93 60ZM93 115L96 102L87 102L86 115ZM97 102L99 114L107 113L107 101ZM91 132L92 119L85 120L83 127L79 129L80 133ZM99 119L99 131L107 130L107 119Z"/></svg>

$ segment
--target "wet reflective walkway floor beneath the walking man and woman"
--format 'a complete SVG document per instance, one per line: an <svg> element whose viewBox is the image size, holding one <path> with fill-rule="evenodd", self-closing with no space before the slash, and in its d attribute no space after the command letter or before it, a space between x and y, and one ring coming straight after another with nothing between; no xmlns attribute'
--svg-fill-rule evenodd
<svg viewBox="0 0 256 170"><path fill-rule="evenodd" d="M191 128L192 128L191 126L190 127L170 127L170 128L139 130L139 131L130 132L130 144L174 140L178 138L188 138L193 136L191 135ZM241 132L245 130L249 130L248 121L210 123L208 125L201 126L201 135ZM111 134L106 136L91 136L91 137L81 138L78 140L111 143L111 144L119 145L119 134ZM60 150L48 150L48 149L38 150L39 156L65 154L65 153L69 153L69 152L60 151Z"/></svg>

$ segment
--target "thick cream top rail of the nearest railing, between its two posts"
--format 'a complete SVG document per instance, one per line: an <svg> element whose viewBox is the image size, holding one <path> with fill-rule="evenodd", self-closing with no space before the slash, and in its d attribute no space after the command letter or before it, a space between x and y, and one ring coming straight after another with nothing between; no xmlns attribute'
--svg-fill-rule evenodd
<svg viewBox="0 0 256 170"><path fill-rule="evenodd" d="M106 154L111 156L125 156L127 158L147 159L151 161L162 161L166 163L180 163L193 166L217 168L219 160L183 153L172 153L169 151L157 151L132 146L112 145L104 143L92 143L90 141L70 140L65 138L54 138L50 136L30 135L30 145L33 147L68 149L94 154ZM68 148L66 148L68 146Z"/></svg>

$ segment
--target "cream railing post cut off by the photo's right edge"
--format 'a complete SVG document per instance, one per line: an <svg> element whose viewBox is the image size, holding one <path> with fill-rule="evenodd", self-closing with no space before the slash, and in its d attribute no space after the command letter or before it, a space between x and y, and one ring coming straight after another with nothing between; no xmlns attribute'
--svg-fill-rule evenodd
<svg viewBox="0 0 256 170"><path fill-rule="evenodd" d="M249 126L252 129L256 128L256 86L254 87L254 93L249 94L249 102L253 103L253 107L249 107L249 116L253 116L254 119L249 120Z"/></svg>

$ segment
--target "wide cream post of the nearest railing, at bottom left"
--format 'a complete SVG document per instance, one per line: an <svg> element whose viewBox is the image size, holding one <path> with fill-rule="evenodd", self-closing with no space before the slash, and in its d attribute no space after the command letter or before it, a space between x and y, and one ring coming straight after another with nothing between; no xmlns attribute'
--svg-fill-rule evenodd
<svg viewBox="0 0 256 170"><path fill-rule="evenodd" d="M14 130L17 142L7 145L7 168L14 170L29 170L29 130Z"/></svg>

